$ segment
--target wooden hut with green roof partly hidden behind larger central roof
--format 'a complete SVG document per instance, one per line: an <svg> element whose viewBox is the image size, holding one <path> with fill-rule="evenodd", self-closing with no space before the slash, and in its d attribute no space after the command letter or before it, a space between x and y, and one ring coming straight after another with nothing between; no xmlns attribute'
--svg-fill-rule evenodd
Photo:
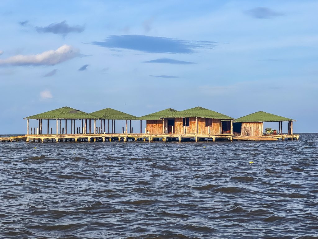
<svg viewBox="0 0 318 239"><path fill-rule="evenodd" d="M152 114L139 117L139 120L146 120L146 133L149 134L165 134L167 128L172 124L174 126L174 113L177 110L168 108Z"/></svg>

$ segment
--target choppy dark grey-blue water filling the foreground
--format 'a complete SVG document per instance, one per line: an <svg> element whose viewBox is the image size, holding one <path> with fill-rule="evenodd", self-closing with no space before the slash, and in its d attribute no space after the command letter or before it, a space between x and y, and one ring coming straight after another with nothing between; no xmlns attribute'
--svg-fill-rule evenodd
<svg viewBox="0 0 318 239"><path fill-rule="evenodd" d="M0 143L0 238L318 238L317 138Z"/></svg>

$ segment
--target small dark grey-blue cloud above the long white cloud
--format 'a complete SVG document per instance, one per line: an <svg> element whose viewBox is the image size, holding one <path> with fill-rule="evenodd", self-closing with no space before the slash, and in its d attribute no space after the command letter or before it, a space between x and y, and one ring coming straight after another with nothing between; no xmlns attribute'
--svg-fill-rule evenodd
<svg viewBox="0 0 318 239"><path fill-rule="evenodd" d="M70 26L66 21L63 21L60 23L52 23L45 27L37 26L36 30L38 33L53 33L66 36L68 33L81 33L85 30L85 27L80 25Z"/></svg>

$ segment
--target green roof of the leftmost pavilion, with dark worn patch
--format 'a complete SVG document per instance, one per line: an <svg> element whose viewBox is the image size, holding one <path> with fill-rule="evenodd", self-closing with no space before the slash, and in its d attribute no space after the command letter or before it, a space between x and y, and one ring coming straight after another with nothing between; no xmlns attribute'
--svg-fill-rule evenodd
<svg viewBox="0 0 318 239"><path fill-rule="evenodd" d="M75 110L70 107L62 107L56 110L47 111L44 113L25 117L24 119L41 119L41 120L55 120L55 119L98 119L95 115L85 113L80 110Z"/></svg>

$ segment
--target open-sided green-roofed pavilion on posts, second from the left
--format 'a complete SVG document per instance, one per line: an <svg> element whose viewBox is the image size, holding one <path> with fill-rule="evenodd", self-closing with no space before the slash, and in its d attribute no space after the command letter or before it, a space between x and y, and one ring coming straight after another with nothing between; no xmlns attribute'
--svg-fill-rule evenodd
<svg viewBox="0 0 318 239"><path fill-rule="evenodd" d="M106 108L106 109L102 109L99 111L95 111L90 113L92 115L95 115L98 117L98 119L100 119L100 128L102 130L102 132L106 132L106 128L105 128L105 120L108 120L107 122L107 133L109 132L109 120L111 120L111 124L112 124L112 128L111 128L111 133L115 133L115 120L126 120L126 134L128 133L133 133L132 132L132 128L131 128L131 120L138 120L138 117L131 115L131 114L127 114L118 110L114 110L112 108ZM129 120L129 129L127 128L127 120ZM96 126L95 126L96 128ZM141 133L141 132L140 132Z"/></svg>

